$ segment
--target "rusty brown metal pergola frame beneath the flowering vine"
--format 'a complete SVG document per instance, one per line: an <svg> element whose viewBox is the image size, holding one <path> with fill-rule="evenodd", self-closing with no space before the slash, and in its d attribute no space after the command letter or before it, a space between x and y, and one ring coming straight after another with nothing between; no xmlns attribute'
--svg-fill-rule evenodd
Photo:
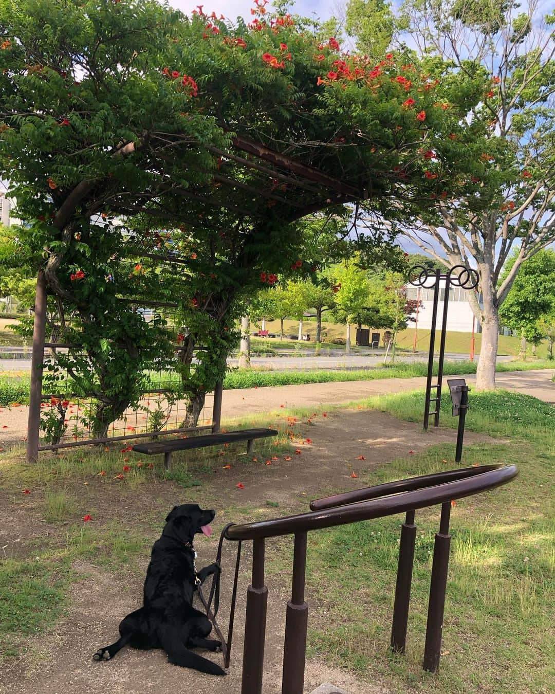
<svg viewBox="0 0 555 694"><path fill-rule="evenodd" d="M162 136L157 136L162 140ZM130 205L125 190L110 194L110 212L114 215L142 215L153 220L164 220L175 217L176 222L188 228L211 229L214 232L225 233L231 220L244 225L245 230L253 230L259 224L264 225L268 219L279 219L283 223L291 223L315 214L326 208L345 203L357 204L370 196L368 174L360 167L346 169L341 160L341 143L310 143L284 146L284 151L271 148L261 142L253 142L242 135L234 135L231 146L221 149L211 144L200 145L187 139L185 142L179 136L164 135L166 144L179 146L186 150L199 152L205 149L214 159L212 171L203 169L202 180L189 187L177 187L164 181L164 162L171 162L171 155L164 151L164 145L151 146L148 151L150 166L157 171L156 184L143 196L135 198L135 204ZM122 155L132 155L135 152L133 144L119 148ZM293 152L291 154L290 152ZM341 176L332 176L330 170L338 171ZM211 180L210 180L211 179ZM210 183L207 183L210 180ZM86 205L87 201L99 196L99 184L83 182L78 184L60 206L54 223L60 228L65 226L78 205ZM185 205L183 205L185 203ZM185 206L185 212L172 210L169 205ZM176 232L178 235L179 232ZM155 252L142 251L139 258L148 258L153 264L187 264L189 260L182 257L171 246L162 245ZM46 275L49 274L46 266ZM65 446L83 445L85 443L106 443L148 436L153 432L129 434L116 432L104 439L86 439L84 441L63 441L54 445L40 446L40 412L41 403L52 395L59 393L44 393L42 390L42 369L45 348L56 350L78 349L78 345L46 341L46 294L47 278L39 274L37 295L35 301L35 323L33 331L33 357L31 371L31 399L28 419L27 458L36 460L39 450L56 450ZM56 282L55 278L48 280ZM157 310L171 311L176 309L176 303L144 301L140 297L122 297L121 301L137 305L156 307ZM179 352L180 348L178 348ZM163 388L159 389L163 391ZM68 393L69 394L69 393ZM44 405L42 405L44 407ZM217 431L221 414L221 384L214 393L212 422L209 426L201 425L200 429L211 428ZM169 429L169 433L178 434L189 429L180 428L177 423ZM155 433L155 432L154 432ZM75 437L74 437L75 439Z"/></svg>

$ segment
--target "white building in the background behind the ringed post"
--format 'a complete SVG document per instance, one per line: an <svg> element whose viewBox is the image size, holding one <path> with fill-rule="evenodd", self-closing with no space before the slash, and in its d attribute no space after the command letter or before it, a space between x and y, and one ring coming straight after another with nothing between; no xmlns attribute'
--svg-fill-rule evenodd
<svg viewBox="0 0 555 694"><path fill-rule="evenodd" d="M432 279L425 282L427 286L432 284ZM443 302L445 301L445 280L440 280L438 314L436 319L436 329L441 330L443 319ZM468 303L468 294L474 289L463 289L462 287L449 288L449 302L447 303L447 330L453 332L472 332L472 319L474 314ZM418 328L430 330L432 328L432 312L434 310L434 289L427 287L413 287L407 285L407 298L420 299L422 305L418 310ZM481 296L479 297L481 303ZM414 315L413 315L414 317ZM414 325L411 323L411 325ZM478 321L475 321L475 331L481 332Z"/></svg>

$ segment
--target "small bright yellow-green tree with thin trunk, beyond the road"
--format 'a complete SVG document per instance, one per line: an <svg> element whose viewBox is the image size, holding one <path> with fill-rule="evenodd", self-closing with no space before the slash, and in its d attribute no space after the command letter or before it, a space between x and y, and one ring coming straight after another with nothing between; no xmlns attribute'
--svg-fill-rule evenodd
<svg viewBox="0 0 555 694"><path fill-rule="evenodd" d="M347 325L345 349L351 346L351 323L357 322L357 317L368 305L370 285L365 269L359 265L359 257L355 255L351 262L344 263L332 269L335 294L334 316L340 323Z"/></svg>

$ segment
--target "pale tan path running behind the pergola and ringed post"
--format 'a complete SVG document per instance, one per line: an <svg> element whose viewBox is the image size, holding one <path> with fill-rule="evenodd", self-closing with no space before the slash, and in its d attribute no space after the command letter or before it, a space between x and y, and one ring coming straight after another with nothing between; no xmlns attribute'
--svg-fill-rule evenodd
<svg viewBox="0 0 555 694"><path fill-rule="evenodd" d="M507 371L496 376L497 386L555 403L555 383L551 380L554 369L537 371ZM456 377L453 377L456 378ZM474 374L466 374L470 387L476 381ZM222 418L238 418L249 414L264 414L284 407L317 407L341 405L362 398L388 393L404 393L426 386L425 378L384 378L374 381L348 381L311 383L306 385L244 388L223 392ZM24 441L28 408L0 407L0 448Z"/></svg>

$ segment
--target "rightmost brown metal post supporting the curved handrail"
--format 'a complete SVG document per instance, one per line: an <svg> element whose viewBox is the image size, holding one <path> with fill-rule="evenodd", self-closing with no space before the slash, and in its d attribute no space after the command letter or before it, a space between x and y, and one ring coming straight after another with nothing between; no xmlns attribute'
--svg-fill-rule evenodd
<svg viewBox="0 0 555 694"><path fill-rule="evenodd" d="M426 626L426 645L422 667L428 672L436 672L441 654L441 634L443 631L443 611L445 609L445 591L447 589L447 567L449 566L449 548L451 536L449 521L451 502L441 505L439 532L434 543L434 562L432 564L432 582L429 587L428 620Z"/></svg>

